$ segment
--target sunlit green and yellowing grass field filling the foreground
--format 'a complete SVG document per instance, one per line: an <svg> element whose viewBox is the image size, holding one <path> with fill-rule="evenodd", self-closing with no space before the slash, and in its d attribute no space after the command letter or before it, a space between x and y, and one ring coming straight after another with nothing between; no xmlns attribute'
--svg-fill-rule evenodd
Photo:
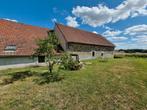
<svg viewBox="0 0 147 110"><path fill-rule="evenodd" d="M147 110L147 59L85 63L79 71L60 70L64 79L59 82L38 85L33 75L0 85L0 110ZM47 68L0 71L0 81L25 70Z"/></svg>

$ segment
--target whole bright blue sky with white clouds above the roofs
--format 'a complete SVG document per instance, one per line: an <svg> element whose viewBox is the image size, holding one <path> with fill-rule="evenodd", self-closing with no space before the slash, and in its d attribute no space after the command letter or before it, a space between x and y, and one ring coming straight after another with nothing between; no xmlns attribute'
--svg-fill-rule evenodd
<svg viewBox="0 0 147 110"><path fill-rule="evenodd" d="M0 0L0 18L48 28L56 21L102 34L117 49L147 49L147 0Z"/></svg>

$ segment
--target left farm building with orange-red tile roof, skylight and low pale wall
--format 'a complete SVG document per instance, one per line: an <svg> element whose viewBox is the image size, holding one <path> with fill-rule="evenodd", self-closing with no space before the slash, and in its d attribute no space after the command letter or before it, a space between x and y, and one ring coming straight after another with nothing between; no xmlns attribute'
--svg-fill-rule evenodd
<svg viewBox="0 0 147 110"><path fill-rule="evenodd" d="M48 36L49 29L0 20L0 66L43 62L43 56L31 57L38 39Z"/></svg>

